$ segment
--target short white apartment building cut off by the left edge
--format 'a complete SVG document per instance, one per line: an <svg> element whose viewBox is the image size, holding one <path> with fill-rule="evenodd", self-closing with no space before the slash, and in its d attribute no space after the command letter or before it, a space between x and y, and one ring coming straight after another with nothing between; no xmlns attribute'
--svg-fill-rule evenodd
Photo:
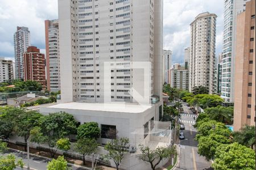
<svg viewBox="0 0 256 170"><path fill-rule="evenodd" d="M0 58L0 83L13 78L13 61Z"/></svg>

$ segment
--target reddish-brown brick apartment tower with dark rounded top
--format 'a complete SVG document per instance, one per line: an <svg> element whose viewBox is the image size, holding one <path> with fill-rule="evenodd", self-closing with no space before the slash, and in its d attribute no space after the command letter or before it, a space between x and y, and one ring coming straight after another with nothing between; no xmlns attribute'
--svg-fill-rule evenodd
<svg viewBox="0 0 256 170"><path fill-rule="evenodd" d="M23 54L24 80L32 80L42 84L46 88L46 59L44 54L36 46L28 46Z"/></svg>

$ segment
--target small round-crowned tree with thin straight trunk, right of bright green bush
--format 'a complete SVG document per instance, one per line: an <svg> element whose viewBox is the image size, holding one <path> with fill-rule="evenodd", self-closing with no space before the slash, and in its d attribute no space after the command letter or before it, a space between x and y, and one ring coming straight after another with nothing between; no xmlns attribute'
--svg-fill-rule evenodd
<svg viewBox="0 0 256 170"><path fill-rule="evenodd" d="M85 165L85 156L96 152L97 147L98 143L94 138L81 138L76 142L74 150L82 154L82 164Z"/></svg>

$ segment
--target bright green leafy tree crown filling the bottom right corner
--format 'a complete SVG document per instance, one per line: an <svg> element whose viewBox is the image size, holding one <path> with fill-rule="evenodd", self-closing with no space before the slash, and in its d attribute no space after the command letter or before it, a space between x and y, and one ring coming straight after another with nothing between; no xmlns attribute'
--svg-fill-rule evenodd
<svg viewBox="0 0 256 170"><path fill-rule="evenodd" d="M255 152L238 143L220 145L212 167L216 170L255 169Z"/></svg>

